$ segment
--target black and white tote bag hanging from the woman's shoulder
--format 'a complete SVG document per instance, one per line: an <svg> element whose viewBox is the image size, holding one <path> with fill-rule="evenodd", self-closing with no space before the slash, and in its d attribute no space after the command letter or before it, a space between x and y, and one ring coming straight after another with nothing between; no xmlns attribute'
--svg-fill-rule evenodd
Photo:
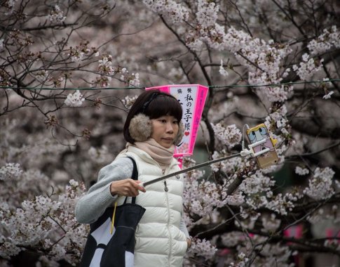
<svg viewBox="0 0 340 267"><path fill-rule="evenodd" d="M137 180L136 162L133 162L132 178ZM145 209L131 203L109 207L95 223L90 224L90 233L86 240L80 267L133 267L135 249L135 230L142 219ZM112 227L112 221L114 225Z"/></svg>

